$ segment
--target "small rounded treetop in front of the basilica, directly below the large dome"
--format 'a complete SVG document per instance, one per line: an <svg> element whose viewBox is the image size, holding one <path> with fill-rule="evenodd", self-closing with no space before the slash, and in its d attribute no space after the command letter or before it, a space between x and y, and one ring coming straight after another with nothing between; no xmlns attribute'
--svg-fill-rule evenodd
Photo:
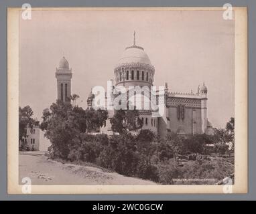
<svg viewBox="0 0 256 214"><path fill-rule="evenodd" d="M117 110L110 122L112 130L120 134L137 131L142 127L138 110Z"/></svg>

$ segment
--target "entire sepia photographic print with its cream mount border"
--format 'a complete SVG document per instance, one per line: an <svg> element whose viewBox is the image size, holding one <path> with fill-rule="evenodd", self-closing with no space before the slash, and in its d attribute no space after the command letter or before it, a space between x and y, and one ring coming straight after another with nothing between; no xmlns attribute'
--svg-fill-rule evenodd
<svg viewBox="0 0 256 214"><path fill-rule="evenodd" d="M8 193L247 193L245 7L7 15Z"/></svg>

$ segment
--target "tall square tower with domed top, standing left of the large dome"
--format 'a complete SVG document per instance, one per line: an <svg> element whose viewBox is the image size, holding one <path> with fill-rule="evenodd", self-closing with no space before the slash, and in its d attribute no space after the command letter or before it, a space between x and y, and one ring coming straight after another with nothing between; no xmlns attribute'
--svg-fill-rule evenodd
<svg viewBox="0 0 256 214"><path fill-rule="evenodd" d="M70 102L72 69L69 68L66 58L63 57L60 60L59 68L56 68L55 75L57 79L57 99L63 102Z"/></svg>

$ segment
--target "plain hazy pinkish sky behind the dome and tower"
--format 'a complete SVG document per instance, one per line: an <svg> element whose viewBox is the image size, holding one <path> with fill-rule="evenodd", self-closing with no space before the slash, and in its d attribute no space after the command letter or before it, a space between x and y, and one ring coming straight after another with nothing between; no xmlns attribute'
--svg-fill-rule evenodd
<svg viewBox="0 0 256 214"><path fill-rule="evenodd" d="M155 86L172 92L208 88L208 120L234 116L234 21L222 11L32 11L20 19L19 105L34 116L57 97L55 72L63 54L72 68L79 106L93 86L107 86L125 47L136 43L155 67Z"/></svg>

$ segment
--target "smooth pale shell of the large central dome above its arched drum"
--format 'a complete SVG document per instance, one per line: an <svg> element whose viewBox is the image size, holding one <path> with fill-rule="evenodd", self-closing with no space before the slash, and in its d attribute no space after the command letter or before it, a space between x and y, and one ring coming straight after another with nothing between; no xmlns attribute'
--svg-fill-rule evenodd
<svg viewBox="0 0 256 214"><path fill-rule="evenodd" d="M123 52L118 64L141 63L151 65L149 57L145 53L143 47L132 45L127 47Z"/></svg>

